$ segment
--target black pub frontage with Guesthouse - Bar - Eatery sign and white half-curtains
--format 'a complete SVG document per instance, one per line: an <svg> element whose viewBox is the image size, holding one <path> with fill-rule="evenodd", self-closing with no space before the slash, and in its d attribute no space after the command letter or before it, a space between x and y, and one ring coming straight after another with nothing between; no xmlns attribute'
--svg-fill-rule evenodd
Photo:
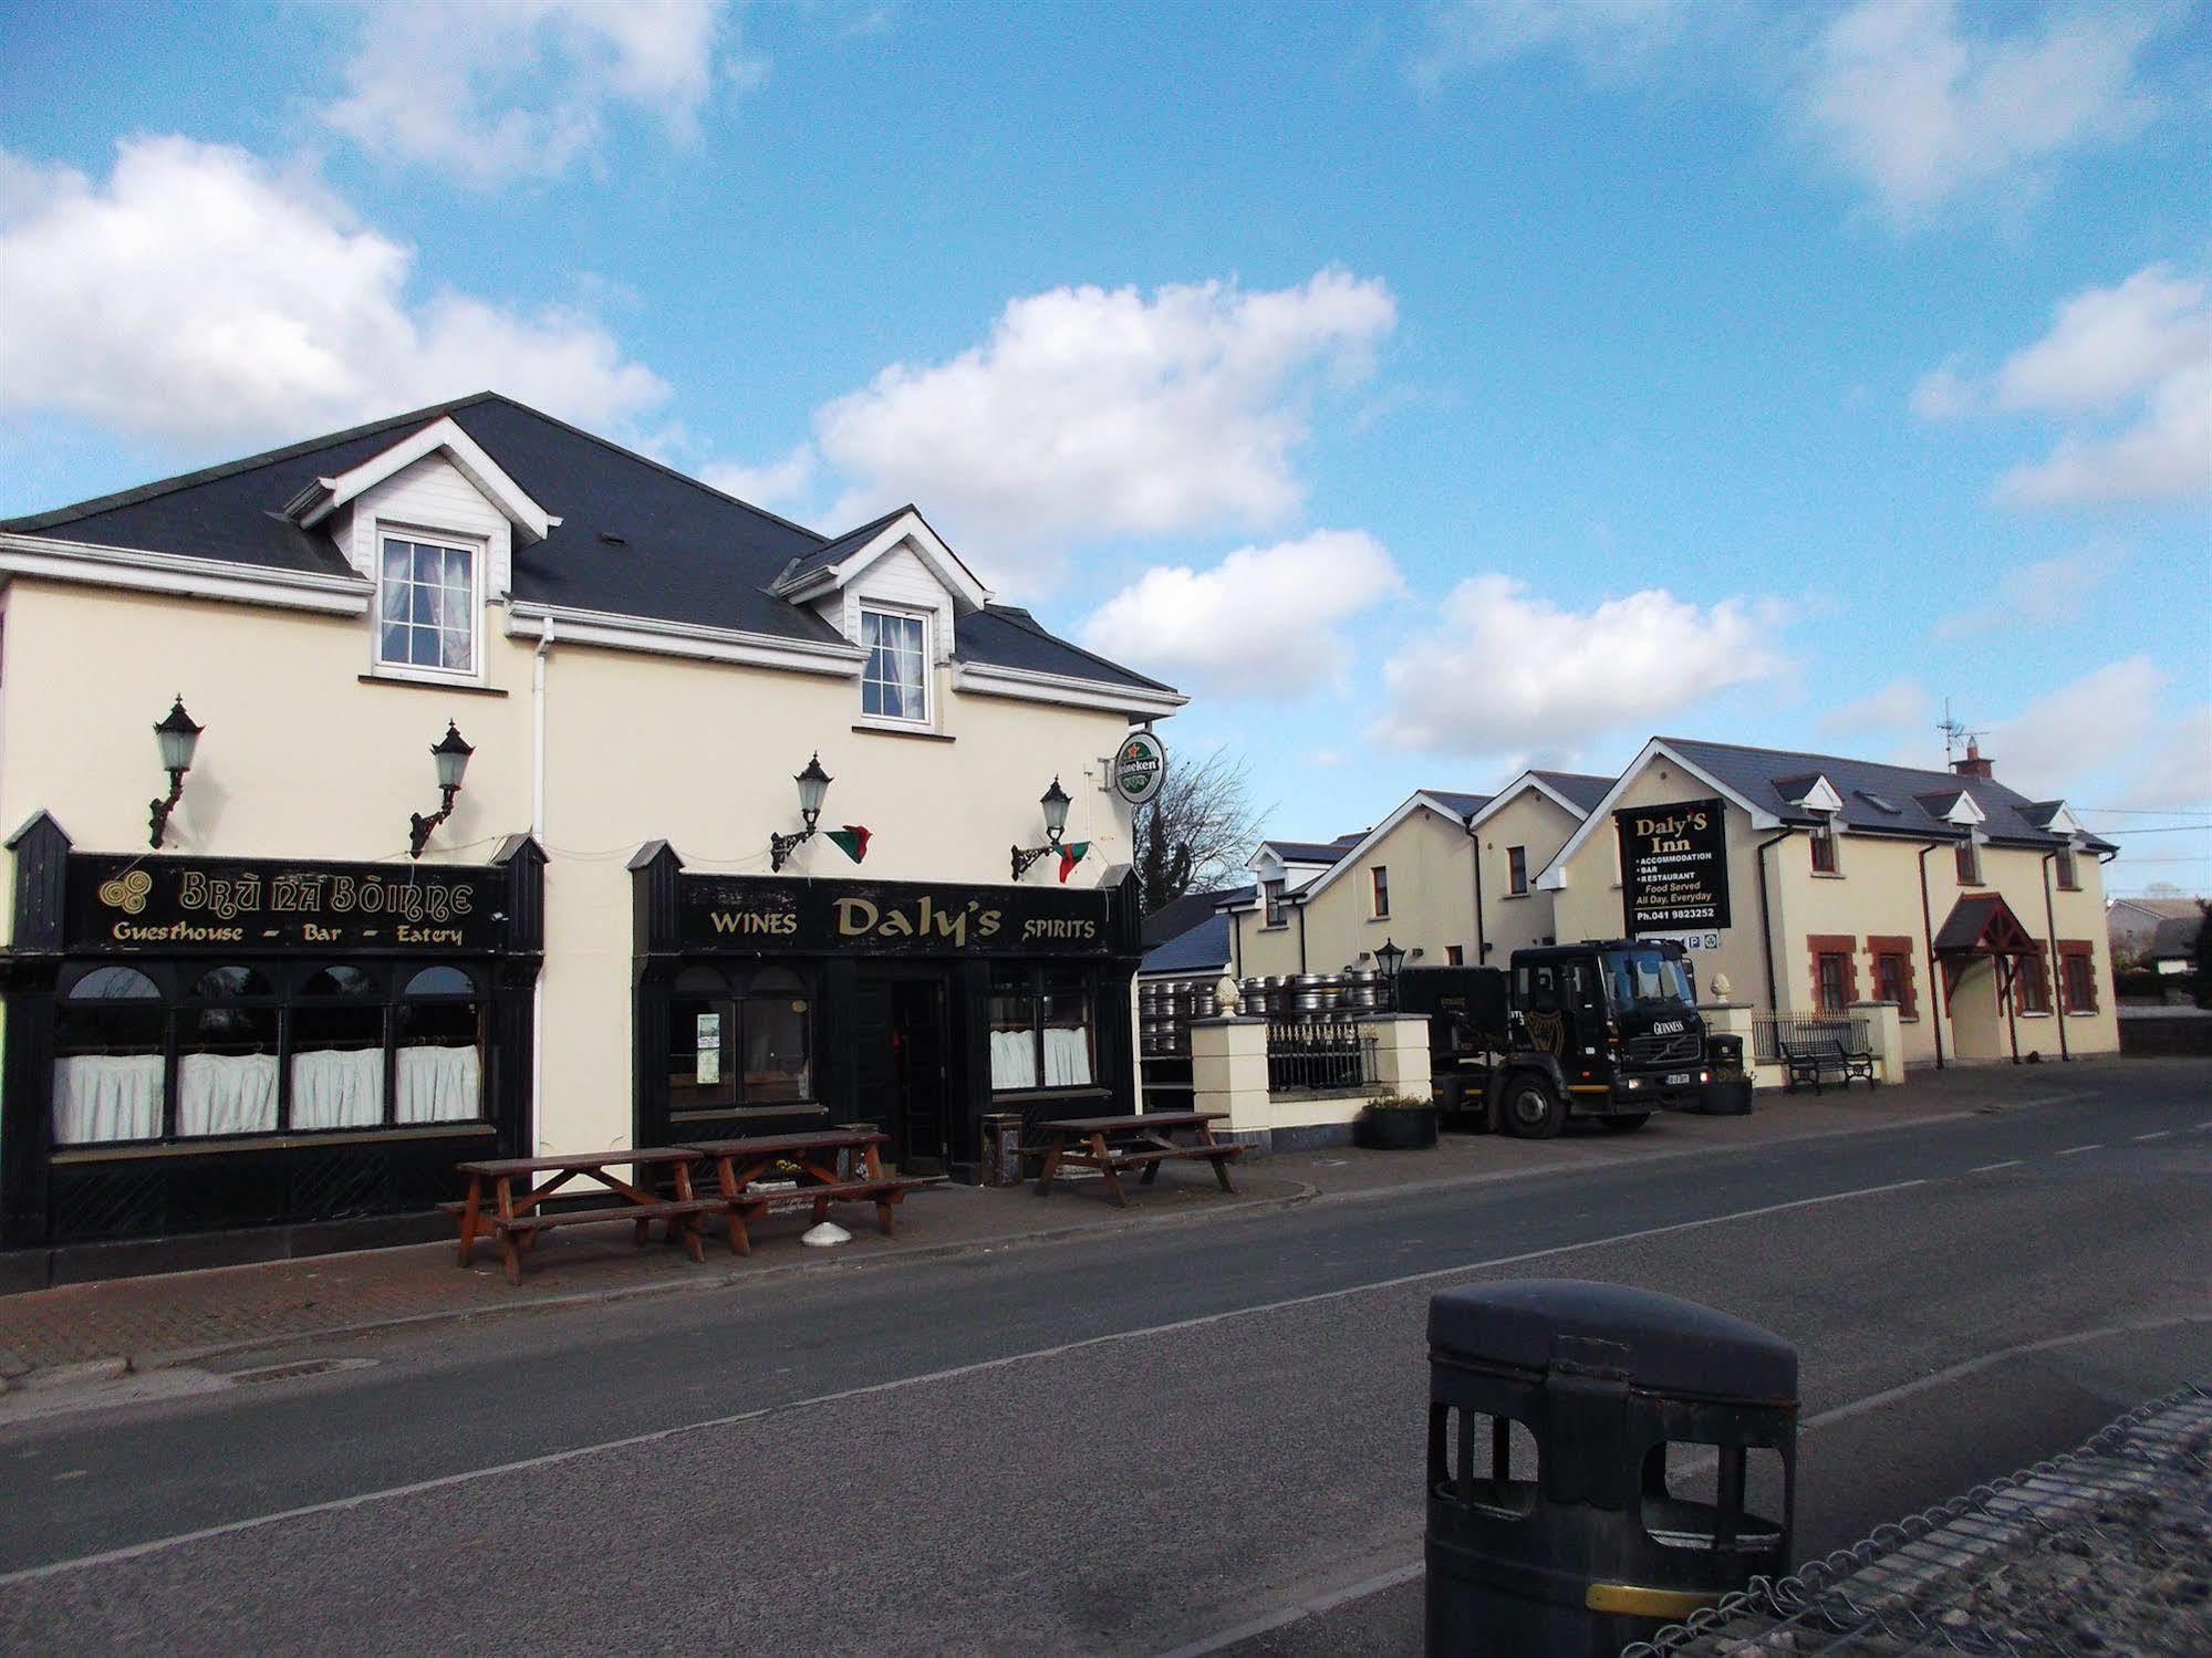
<svg viewBox="0 0 2212 1658"><path fill-rule="evenodd" d="M518 1156L544 853L347 864L15 853L0 1280L425 1236L453 1163Z"/></svg>

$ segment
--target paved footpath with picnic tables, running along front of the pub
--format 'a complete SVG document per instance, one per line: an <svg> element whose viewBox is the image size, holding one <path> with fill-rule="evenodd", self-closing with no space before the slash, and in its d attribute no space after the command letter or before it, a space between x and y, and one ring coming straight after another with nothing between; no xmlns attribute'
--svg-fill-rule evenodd
<svg viewBox="0 0 2212 1658"><path fill-rule="evenodd" d="M675 1249L637 1249L626 1222L595 1227L588 1238L566 1229L538 1242L520 1289L504 1280L491 1245L478 1245L469 1271L453 1265L451 1245L411 1245L66 1284L0 1295L0 1388L155 1371L312 1335L478 1320L626 1295L697 1293L787 1271L838 1271L891 1258L1104 1236L1133 1225L1219 1220L1321 1194L1418 1192L1555 1169L1635 1167L1652 1158L1900 1127L1962 1112L2020 1110L2077 1099L2084 1077L2126 1070L2126 1061L2099 1061L2064 1072L1927 1072L1905 1088L1874 1092L1761 1094L1752 1116L1661 1116L1644 1132L1624 1136L1586 1130L1562 1141L1447 1134L1433 1152L1332 1150L1248 1158L1239 1172L1241 1200L1223 1200L1210 1176L1203 1183L1177 1178L1190 1172L1170 1172L1152 1187L1130 1183L1126 1211L1104 1203L1097 1185L1079 1176L1042 1203L1029 1187L940 1187L909 1198L898 1238L883 1238L865 1207L847 1207L836 1218L852 1229L849 1245L803 1249L796 1242L805 1229L803 1214L776 1214L757 1227L750 1258L732 1260L710 1245L703 1269Z"/></svg>

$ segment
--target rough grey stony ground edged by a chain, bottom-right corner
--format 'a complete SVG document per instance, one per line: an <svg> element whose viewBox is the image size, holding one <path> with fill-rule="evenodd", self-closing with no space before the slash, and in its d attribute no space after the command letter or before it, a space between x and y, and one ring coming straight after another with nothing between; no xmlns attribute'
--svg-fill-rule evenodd
<svg viewBox="0 0 2212 1658"><path fill-rule="evenodd" d="M1754 1578L1621 1658L2205 1658L2212 1386L2143 1406L2064 1457Z"/></svg>

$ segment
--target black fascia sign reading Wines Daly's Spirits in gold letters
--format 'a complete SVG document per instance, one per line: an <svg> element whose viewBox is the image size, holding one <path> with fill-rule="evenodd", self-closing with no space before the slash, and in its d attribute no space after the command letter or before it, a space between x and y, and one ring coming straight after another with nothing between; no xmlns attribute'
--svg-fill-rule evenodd
<svg viewBox="0 0 2212 1658"><path fill-rule="evenodd" d="M684 875L686 951L1110 955L1106 893L938 882Z"/></svg>

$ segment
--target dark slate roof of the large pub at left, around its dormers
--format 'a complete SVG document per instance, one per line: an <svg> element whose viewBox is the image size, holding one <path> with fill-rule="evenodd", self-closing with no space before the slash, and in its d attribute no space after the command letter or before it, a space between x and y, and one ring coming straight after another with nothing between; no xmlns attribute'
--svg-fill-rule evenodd
<svg viewBox="0 0 2212 1658"><path fill-rule="evenodd" d="M843 643L812 608L770 588L796 566L843 557L896 517L832 539L495 391L478 391L223 466L0 520L0 531L352 575L327 535L303 531L283 515L285 502L316 478L349 471L440 416L562 520L544 542L515 548L513 597L522 601ZM1011 606L962 617L953 657L1168 690L1053 637Z"/></svg>

